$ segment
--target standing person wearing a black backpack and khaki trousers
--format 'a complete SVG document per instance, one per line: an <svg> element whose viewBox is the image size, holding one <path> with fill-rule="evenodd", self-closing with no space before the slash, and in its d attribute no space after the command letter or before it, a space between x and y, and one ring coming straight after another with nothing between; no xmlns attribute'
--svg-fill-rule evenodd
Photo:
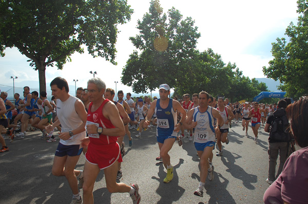
<svg viewBox="0 0 308 204"><path fill-rule="evenodd" d="M287 103L285 100L278 101L278 109L274 111L273 115L267 118L266 125L264 127L265 132L269 132L268 137L268 177L266 182L270 185L276 180L283 169L283 165L287 157L290 155L290 141L291 137L287 131L288 119L286 117ZM277 175L276 164L278 154L280 157L280 163Z"/></svg>

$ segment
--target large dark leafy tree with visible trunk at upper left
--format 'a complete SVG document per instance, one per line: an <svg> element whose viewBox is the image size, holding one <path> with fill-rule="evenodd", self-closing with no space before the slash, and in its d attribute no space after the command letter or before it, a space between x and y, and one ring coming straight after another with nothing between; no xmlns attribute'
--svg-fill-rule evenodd
<svg viewBox="0 0 308 204"><path fill-rule="evenodd" d="M40 91L46 91L46 66L63 65L86 45L93 56L116 64L117 25L129 21L126 0L2 0L0 55L16 47L38 71Z"/></svg>

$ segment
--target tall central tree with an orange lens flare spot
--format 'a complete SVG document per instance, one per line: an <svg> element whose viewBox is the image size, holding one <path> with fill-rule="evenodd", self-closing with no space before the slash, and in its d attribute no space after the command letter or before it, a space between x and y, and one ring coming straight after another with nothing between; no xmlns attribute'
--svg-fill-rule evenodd
<svg viewBox="0 0 308 204"><path fill-rule="evenodd" d="M175 8L163 13L158 0L150 3L149 12L138 21L139 34L130 37L137 48L130 54L122 71L122 83L136 93L155 90L160 84L177 87L186 83L193 65L200 33L194 21Z"/></svg>

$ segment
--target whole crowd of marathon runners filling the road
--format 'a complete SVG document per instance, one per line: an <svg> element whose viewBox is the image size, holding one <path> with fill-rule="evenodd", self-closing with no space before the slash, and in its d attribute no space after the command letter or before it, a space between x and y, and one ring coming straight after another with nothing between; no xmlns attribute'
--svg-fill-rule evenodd
<svg viewBox="0 0 308 204"><path fill-rule="evenodd" d="M216 99L205 91L192 94L191 100L190 94L184 94L182 99L172 99L168 97L170 87L167 84L159 86L160 98L145 96L134 99L131 93L126 93L124 99L123 91L118 91L118 101L113 100L114 90L106 88L100 78L88 80L87 88L76 90L76 97L69 94L64 78L55 78L50 87L53 95L50 101L45 91L38 94L30 92L29 87L24 87L24 99L15 93L14 103L7 99L8 93L1 92L0 152L9 151L6 138L12 142L16 138L25 138L27 131L37 130L42 132L41 139L55 142L57 138L53 132L59 131L57 137L60 141L55 151L52 174L66 177L73 203L82 203L81 188L84 203L94 202L92 191L100 170L104 170L109 192L127 192L133 203L140 203L136 183L128 186L117 182L122 177L125 135L128 136L129 147L133 146L131 129L138 131L134 139L140 139L142 131L156 129L160 150L156 160L162 161L167 170L164 182L170 182L174 176L168 154L174 143L177 141L182 146L185 135L190 141L194 140L201 167L199 187L194 194L202 197L206 178L209 181L214 179L213 150L216 146L216 156L223 156L222 143L229 143L228 132L232 123L242 120L246 136L253 134L257 143L258 129L277 109L276 104L250 101L232 104L228 98ZM12 121L13 110L17 111L17 115ZM249 131L249 124L252 131ZM20 132L17 133L17 130ZM86 157L84 170L75 170L82 153Z"/></svg>

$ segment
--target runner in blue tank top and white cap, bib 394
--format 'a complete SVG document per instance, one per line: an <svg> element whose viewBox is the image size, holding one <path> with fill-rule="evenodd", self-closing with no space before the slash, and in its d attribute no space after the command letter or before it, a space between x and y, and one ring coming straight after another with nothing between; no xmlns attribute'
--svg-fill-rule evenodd
<svg viewBox="0 0 308 204"><path fill-rule="evenodd" d="M160 156L163 159L163 164L167 169L167 176L164 178L164 182L170 182L173 178L173 167L170 163L170 156L168 152L171 150L177 137L183 121L186 118L186 111L181 106L179 101L168 97L170 94L170 87L167 84L159 86L160 99L154 100L150 106L147 116L145 117L145 123L143 127L150 125L149 119L153 113L157 115L157 141L160 149ZM182 113L182 118L178 124L177 111Z"/></svg>

